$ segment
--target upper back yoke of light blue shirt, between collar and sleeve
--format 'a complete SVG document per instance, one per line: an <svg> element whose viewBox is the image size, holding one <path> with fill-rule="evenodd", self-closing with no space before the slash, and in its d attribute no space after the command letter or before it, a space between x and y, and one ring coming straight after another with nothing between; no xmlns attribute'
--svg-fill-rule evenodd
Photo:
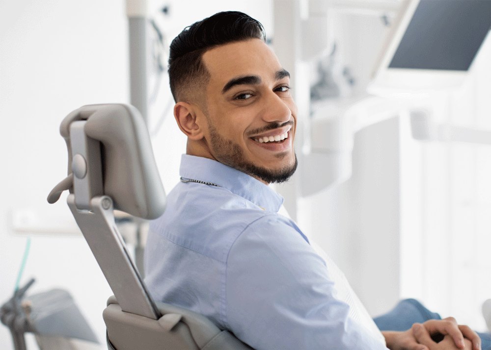
<svg viewBox="0 0 491 350"><path fill-rule="evenodd" d="M164 215L150 228L151 234L222 260L249 225L277 216L221 187L178 184L167 196Z"/></svg>

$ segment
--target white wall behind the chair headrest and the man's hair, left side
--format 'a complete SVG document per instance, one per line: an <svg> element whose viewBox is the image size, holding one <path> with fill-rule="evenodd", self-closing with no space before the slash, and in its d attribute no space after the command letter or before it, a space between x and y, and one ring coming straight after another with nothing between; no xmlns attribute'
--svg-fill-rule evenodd
<svg viewBox="0 0 491 350"><path fill-rule="evenodd" d="M164 4L171 12L159 17L159 23L169 42L186 25L230 9L248 12L271 34L269 1ZM152 4L155 16L160 16L160 5ZM71 215L66 196L54 205L46 202L51 189L66 176L66 146L58 131L61 120L84 104L129 102L127 30L123 0L0 2L1 303L13 293L27 240L13 232L12 213L30 207L33 215L42 217ZM166 100L164 79L161 98ZM153 108L152 126L161 114L162 109ZM185 150L173 118L165 120L153 144L168 191L179 181L180 154ZM54 287L69 290L104 342L102 310L112 293L82 237L32 235L21 285L31 276L36 283L28 294ZM28 341L32 345L32 339ZM10 334L1 325L0 350L10 349Z"/></svg>

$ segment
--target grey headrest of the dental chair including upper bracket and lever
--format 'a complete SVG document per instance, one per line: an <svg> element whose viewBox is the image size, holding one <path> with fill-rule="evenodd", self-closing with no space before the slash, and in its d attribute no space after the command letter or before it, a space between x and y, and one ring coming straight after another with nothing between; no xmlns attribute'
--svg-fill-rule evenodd
<svg viewBox="0 0 491 350"><path fill-rule="evenodd" d="M83 135L74 138L72 130L77 128L82 128L86 140ZM82 196L90 200L96 195L107 195L114 201L115 209L133 216L155 219L162 215L164 187L146 125L135 107L129 104L83 106L63 119L60 134L68 149L68 175L74 174L74 170L83 173L80 168L85 161L85 176L81 178L75 172L74 189L70 189L71 193L78 192L78 202ZM81 144L83 141L86 145ZM87 191L84 185L88 186ZM56 201L59 194L59 190L50 194L48 201Z"/></svg>

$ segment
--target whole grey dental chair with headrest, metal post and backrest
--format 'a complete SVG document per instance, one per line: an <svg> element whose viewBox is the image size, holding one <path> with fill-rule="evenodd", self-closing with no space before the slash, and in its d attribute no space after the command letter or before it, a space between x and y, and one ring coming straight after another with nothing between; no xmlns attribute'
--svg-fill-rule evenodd
<svg viewBox="0 0 491 350"><path fill-rule="evenodd" d="M60 133L68 176L51 191L67 202L114 293L103 312L111 350L251 350L203 315L158 302L148 293L114 221L114 210L155 219L165 193L147 127L127 104L86 105L70 113Z"/></svg>

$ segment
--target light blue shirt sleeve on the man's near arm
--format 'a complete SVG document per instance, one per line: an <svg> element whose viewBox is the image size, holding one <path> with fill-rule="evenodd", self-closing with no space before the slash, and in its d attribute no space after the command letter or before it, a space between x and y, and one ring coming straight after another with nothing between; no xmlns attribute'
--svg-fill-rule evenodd
<svg viewBox="0 0 491 350"><path fill-rule="evenodd" d="M227 259L225 317L260 349L386 349L349 316L324 260L286 219L265 216L245 229Z"/></svg>

